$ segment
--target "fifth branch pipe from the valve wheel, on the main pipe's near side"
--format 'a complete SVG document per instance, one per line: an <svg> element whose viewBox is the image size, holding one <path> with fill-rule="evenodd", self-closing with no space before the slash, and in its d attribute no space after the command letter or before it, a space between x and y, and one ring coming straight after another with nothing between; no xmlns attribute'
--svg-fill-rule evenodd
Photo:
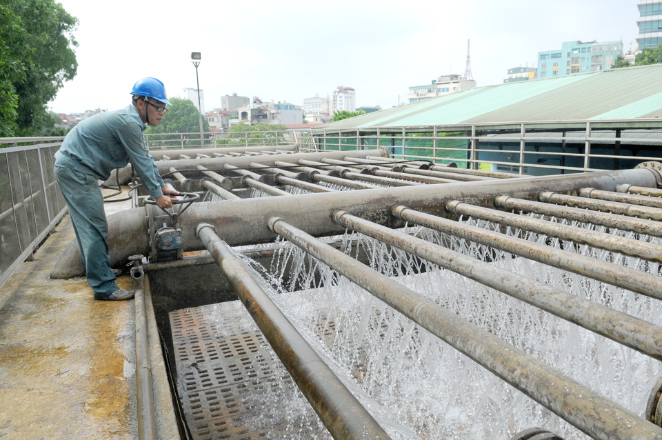
<svg viewBox="0 0 662 440"><path fill-rule="evenodd" d="M645 241L626 239L612 234L604 234L590 229L575 228L553 221L534 219L510 212L497 211L489 208L473 206L461 201L449 201L446 203L446 210L458 215L474 217L498 223L499 225L512 226L530 230L538 234L545 234L548 237L557 237L563 240L574 241L575 243L588 244L594 248L621 252L633 257L647 259L662 263L662 246Z"/></svg>

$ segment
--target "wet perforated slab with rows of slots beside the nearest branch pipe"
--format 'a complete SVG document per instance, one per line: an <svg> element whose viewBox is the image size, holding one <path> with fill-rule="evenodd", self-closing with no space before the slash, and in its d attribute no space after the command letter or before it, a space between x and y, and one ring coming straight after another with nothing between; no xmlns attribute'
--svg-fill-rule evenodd
<svg viewBox="0 0 662 440"><path fill-rule="evenodd" d="M193 439L330 439L240 301L170 312Z"/></svg>

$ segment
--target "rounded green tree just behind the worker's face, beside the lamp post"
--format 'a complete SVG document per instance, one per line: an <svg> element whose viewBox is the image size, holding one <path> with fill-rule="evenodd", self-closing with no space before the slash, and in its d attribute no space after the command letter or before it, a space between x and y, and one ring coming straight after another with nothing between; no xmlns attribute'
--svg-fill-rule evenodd
<svg viewBox="0 0 662 440"><path fill-rule="evenodd" d="M163 119L158 126L148 128L145 134L154 133L195 133L186 137L192 139L192 142L200 146L200 112L190 99L170 98L172 106L168 106L168 111L163 115ZM202 120L204 132L209 131L209 122ZM164 146L180 145L181 136L159 136L159 140L165 141ZM177 139L177 140L169 140ZM187 142L188 143L188 142Z"/></svg>

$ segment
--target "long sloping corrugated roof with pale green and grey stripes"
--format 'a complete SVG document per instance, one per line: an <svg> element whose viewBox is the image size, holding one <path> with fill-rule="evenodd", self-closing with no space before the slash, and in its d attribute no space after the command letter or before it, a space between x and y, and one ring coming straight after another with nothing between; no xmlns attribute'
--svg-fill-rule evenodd
<svg viewBox="0 0 662 440"><path fill-rule="evenodd" d="M662 64L474 88L320 128L652 117L662 117Z"/></svg>

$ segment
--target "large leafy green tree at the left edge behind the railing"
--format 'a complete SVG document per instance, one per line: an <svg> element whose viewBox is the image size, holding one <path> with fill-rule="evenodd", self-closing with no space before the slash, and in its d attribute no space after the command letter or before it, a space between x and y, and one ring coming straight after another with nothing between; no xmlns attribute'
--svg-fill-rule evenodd
<svg viewBox="0 0 662 440"><path fill-rule="evenodd" d="M0 136L52 128L46 103L78 63L78 20L54 0L3 0L0 6Z"/></svg>

